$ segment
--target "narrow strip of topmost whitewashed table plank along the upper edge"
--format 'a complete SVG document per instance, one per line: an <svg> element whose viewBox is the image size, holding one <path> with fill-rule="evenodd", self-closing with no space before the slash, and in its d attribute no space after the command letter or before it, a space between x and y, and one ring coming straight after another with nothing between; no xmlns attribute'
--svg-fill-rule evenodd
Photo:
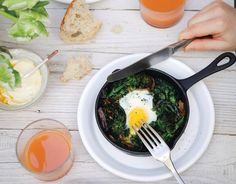
<svg viewBox="0 0 236 184"><path fill-rule="evenodd" d="M201 10L204 6L213 0L187 0L185 10ZM233 5L233 0L225 0L226 3ZM51 2L48 5L50 9L66 8L66 4ZM138 0L102 0L90 5L91 9L112 9L112 10L139 10Z"/></svg>

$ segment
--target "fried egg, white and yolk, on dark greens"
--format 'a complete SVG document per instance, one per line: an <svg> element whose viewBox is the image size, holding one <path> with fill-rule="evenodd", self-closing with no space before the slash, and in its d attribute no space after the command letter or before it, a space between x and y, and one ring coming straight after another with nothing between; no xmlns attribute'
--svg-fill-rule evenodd
<svg viewBox="0 0 236 184"><path fill-rule="evenodd" d="M119 100L126 114L126 127L130 134L135 134L132 127L140 127L143 123L156 121L153 111L153 96L148 90L134 90Z"/></svg>

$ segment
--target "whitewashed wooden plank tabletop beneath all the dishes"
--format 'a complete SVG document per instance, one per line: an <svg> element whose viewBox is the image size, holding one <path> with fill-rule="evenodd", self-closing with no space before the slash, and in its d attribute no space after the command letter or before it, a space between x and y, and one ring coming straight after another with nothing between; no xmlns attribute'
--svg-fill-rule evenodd
<svg viewBox="0 0 236 184"><path fill-rule="evenodd" d="M177 40L178 33L187 21L208 0L188 0L183 19L169 29L150 27L139 15L138 0L103 0L93 4L91 9L103 22L103 28L96 39L89 44L66 45L58 36L59 25L66 5L51 2L48 6L51 23L50 36L28 44L16 43L7 38L9 22L0 18L0 44L33 50L45 56L53 49L60 55L49 63L50 77L47 91L34 106L17 112L0 111L0 182L41 183L25 171L15 156L15 144L21 129L40 118L54 118L62 121L71 131L75 145L75 162L72 170L53 183L135 183L124 180L102 169L85 150L77 129L76 111L80 95L91 77L113 59L133 53L154 52ZM233 0L227 0L233 5ZM121 27L120 33L112 31ZM87 54L91 56L93 71L81 81L62 83L59 78L70 56ZM175 58L183 61L195 71L209 64L219 52L179 52ZM212 141L201 159L183 173L186 183L192 184L235 184L236 183L236 66L217 73L204 82L214 100L216 125ZM168 179L157 183L175 183Z"/></svg>

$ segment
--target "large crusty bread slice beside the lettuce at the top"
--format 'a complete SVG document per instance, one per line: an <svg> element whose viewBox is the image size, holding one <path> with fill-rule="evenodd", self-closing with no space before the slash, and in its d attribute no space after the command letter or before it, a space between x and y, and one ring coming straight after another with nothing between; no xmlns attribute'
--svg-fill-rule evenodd
<svg viewBox="0 0 236 184"><path fill-rule="evenodd" d="M60 37L66 43L86 42L95 37L101 26L84 0L73 0L61 22Z"/></svg>

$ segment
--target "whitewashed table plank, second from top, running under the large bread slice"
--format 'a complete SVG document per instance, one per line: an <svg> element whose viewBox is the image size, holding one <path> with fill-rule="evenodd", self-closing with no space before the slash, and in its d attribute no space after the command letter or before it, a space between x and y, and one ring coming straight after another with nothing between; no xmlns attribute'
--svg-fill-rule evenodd
<svg viewBox="0 0 236 184"><path fill-rule="evenodd" d="M103 22L102 30L96 39L87 44L65 44L58 36L59 25L65 10L50 10L51 25L49 25L50 36L40 38L29 43L15 43L6 36L9 24L0 27L0 40L3 45L11 47L33 48L34 51L59 49L63 51L80 52L109 52L109 53L138 53L154 52L163 46L175 42L178 33L186 26L187 21L196 12L186 12L184 18L175 26L168 29L156 29L147 25L137 11L111 11L96 10L94 14ZM127 19L129 17L129 19ZM134 21L135 20L135 21ZM0 21L4 22L1 18ZM121 26L120 34L112 32L114 26ZM33 45L33 47L32 47Z"/></svg>

